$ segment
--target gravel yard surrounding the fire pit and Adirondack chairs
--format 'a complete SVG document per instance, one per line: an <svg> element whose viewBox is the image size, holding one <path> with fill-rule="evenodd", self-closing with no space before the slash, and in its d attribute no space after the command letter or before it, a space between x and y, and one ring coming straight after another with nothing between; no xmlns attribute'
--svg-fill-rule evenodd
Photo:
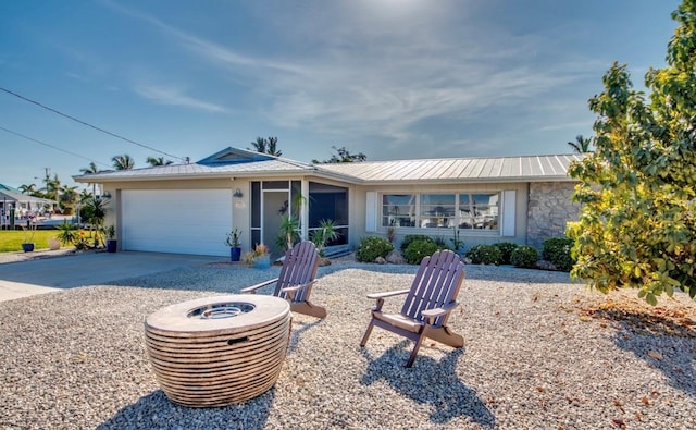
<svg viewBox="0 0 696 430"><path fill-rule="evenodd" d="M328 316L294 316L274 388L221 408L171 403L148 363L145 318L277 271L198 266L0 303L0 428L696 428L687 296L662 299L641 327L632 309L651 309L631 300L635 292L608 297L567 273L509 267L467 266L450 320L465 346L426 342L411 369L402 337L375 329L359 342L365 295L408 287L415 267L323 267L312 300Z"/></svg>

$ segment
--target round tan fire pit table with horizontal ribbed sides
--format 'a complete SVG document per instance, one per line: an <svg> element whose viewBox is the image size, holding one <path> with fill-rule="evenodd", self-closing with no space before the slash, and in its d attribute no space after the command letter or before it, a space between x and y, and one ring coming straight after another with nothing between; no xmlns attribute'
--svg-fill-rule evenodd
<svg viewBox="0 0 696 430"><path fill-rule="evenodd" d="M287 353L290 306L263 295L184 302L145 319L154 376L174 403L190 407L237 404L277 381Z"/></svg>

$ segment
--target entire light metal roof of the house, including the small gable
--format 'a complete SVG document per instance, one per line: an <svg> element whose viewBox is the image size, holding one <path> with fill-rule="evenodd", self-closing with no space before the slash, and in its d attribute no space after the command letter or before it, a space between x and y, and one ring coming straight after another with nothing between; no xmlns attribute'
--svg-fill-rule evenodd
<svg viewBox="0 0 696 430"><path fill-rule="evenodd" d="M245 158L245 156L248 156ZM225 163L225 159L229 162ZM237 148L224 149L199 162L170 164L146 169L102 171L73 176L76 182L107 183L167 179L202 179L228 176L275 176L312 174L350 183L378 184L394 182L534 182L572 181L568 167L582 160L579 153L497 158L445 158L424 160L365 161L357 163L309 164L279 157L259 157L258 152Z"/></svg>

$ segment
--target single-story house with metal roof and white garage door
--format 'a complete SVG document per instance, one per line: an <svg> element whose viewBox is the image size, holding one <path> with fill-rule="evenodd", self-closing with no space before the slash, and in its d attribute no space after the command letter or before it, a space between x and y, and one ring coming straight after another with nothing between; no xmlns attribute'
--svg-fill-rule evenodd
<svg viewBox="0 0 696 430"><path fill-rule="evenodd" d="M190 164L74 176L111 195L107 223L126 250L228 255L233 226L243 247L275 246L283 217L309 237L323 219L355 248L366 235L451 237L467 247L514 242L539 247L577 218L571 161L581 155L310 164L226 148ZM276 249L277 251L277 249Z"/></svg>

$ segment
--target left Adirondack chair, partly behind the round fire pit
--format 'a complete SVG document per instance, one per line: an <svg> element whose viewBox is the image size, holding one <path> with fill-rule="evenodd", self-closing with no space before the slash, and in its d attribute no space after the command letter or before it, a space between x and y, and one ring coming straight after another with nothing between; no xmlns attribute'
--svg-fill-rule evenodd
<svg viewBox="0 0 696 430"><path fill-rule="evenodd" d="M243 293L256 294L257 290L275 283L273 295L290 303L290 310L316 318L325 318L326 309L312 304L309 296L316 282L319 253L313 243L303 241L285 253L278 278L243 288Z"/></svg>

